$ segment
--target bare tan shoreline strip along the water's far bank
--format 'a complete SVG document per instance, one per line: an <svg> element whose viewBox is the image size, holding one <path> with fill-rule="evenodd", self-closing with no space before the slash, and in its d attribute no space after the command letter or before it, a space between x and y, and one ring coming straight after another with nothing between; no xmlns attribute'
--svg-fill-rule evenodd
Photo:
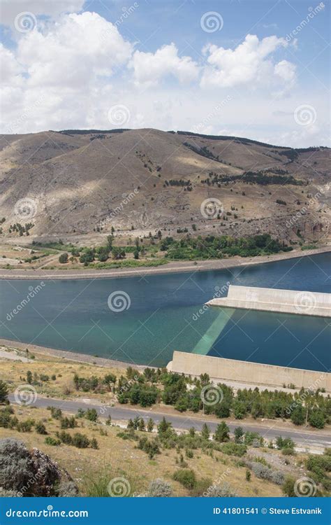
<svg viewBox="0 0 331 525"><path fill-rule="evenodd" d="M330 253L331 246L316 248L314 250L293 250L273 255L256 255L256 257L240 257L236 255L228 259L200 260L196 264L191 261L169 262L167 265L159 267L136 267L134 269L87 269L87 270L43 270L43 269L0 269L0 279L2 280L67 280L67 279L115 279L118 277L140 277L145 275L162 275L184 272L207 272L214 269L227 269L232 267L251 266L265 264L267 262L277 262L281 260L296 259L307 257L308 255L318 255L320 253Z"/></svg>

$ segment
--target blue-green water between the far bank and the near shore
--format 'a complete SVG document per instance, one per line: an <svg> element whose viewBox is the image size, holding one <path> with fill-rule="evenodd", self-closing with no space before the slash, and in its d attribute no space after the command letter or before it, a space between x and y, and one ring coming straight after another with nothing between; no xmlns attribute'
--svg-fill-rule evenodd
<svg viewBox="0 0 331 525"><path fill-rule="evenodd" d="M218 336L209 328L219 309L204 311L203 304L227 282L330 293L330 262L330 254L321 254L208 272L45 281L14 315L40 281L0 281L0 337L154 366L168 363L174 350L206 344L209 355L326 370L330 320L237 310L220 321ZM118 290L131 304L116 312L108 297Z"/></svg>

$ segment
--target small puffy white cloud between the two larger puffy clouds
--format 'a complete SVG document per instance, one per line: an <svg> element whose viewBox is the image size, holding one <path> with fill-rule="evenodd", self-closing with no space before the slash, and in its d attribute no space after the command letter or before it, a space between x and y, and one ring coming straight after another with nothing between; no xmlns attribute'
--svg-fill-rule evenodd
<svg viewBox="0 0 331 525"><path fill-rule="evenodd" d="M174 43L163 45L156 52L135 51L129 66L137 85L156 85L162 78L174 76L181 83L198 77L198 65L191 57L179 57Z"/></svg>

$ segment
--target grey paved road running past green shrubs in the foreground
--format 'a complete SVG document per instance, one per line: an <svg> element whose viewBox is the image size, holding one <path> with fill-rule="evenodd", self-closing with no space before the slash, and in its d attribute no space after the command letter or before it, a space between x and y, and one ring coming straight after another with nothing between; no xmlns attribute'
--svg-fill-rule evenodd
<svg viewBox="0 0 331 525"><path fill-rule="evenodd" d="M8 396L10 402L15 403L15 399L13 394ZM71 401L71 400L58 400L58 399L52 399L52 398L41 398L38 396L36 399L36 402L34 402L34 406L36 407L57 407L61 408L62 410L66 412L72 412L75 414L79 408L87 409L87 408L95 408L101 417L108 417L109 415L112 416L112 420L114 421L128 421L128 419L133 419L136 416L143 417L145 420L149 419L149 417L152 417L156 423L159 423L163 416L165 416L165 419L167 421L170 421L172 423L172 426L178 430L180 429L186 429L189 430L191 426L196 428L196 430L201 430L203 423L207 423L210 430L214 432L217 426L217 422L211 421L209 419L198 419L195 418L193 415L170 415L162 412L155 412L154 410L144 410L144 409L133 409L132 407L108 407L107 405L98 405L94 404L93 402L84 402L82 400L80 401ZM221 420L220 420L221 421ZM308 448L318 448L318 447L331 447L331 436L328 435L325 432L318 432L317 430L307 430L305 428L301 429L298 428L293 429L290 428L289 430L284 430L280 428L273 428L272 426L263 426L262 424L256 424L253 425L252 423L245 423L244 421L238 421L237 423L228 423L228 427L230 428L230 431L233 432L233 430L237 426L242 426L245 432L258 432L261 435L263 435L268 440L274 440L275 437L278 435L282 435L283 437L291 437L295 443L300 447L308 447ZM277 425L277 421L275 421L275 426Z"/></svg>

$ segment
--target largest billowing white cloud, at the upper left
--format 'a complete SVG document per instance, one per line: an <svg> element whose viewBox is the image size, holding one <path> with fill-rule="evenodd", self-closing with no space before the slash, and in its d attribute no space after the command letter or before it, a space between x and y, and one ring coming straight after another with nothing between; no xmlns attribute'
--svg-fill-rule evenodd
<svg viewBox="0 0 331 525"><path fill-rule="evenodd" d="M29 73L27 85L86 89L97 76L125 64L132 45L96 13L66 15L44 32L29 31L18 43L17 60Z"/></svg>

